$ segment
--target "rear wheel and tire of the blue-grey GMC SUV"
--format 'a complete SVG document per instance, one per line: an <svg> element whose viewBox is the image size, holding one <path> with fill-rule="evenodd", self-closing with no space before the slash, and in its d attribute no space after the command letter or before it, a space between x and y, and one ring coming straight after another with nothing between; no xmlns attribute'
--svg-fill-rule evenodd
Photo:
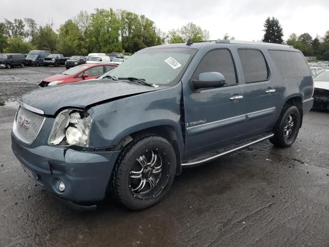
<svg viewBox="0 0 329 247"><path fill-rule="evenodd" d="M273 129L274 136L269 140L276 147L290 147L295 143L300 126L301 119L298 108L295 105L285 105Z"/></svg>

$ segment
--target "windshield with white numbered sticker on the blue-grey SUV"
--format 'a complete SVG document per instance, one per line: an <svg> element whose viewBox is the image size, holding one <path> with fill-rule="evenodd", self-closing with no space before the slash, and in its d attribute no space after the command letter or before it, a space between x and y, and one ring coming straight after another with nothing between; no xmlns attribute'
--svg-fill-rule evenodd
<svg viewBox="0 0 329 247"><path fill-rule="evenodd" d="M192 48L155 48L136 52L109 75L135 77L145 81L172 86L178 83L196 49Z"/></svg>

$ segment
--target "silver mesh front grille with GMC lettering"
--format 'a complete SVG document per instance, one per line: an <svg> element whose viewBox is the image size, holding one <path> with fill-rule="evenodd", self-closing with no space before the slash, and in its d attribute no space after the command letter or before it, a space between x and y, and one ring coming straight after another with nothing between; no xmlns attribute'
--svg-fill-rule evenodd
<svg viewBox="0 0 329 247"><path fill-rule="evenodd" d="M38 136L45 119L20 106L15 116L13 133L22 143L30 145Z"/></svg>

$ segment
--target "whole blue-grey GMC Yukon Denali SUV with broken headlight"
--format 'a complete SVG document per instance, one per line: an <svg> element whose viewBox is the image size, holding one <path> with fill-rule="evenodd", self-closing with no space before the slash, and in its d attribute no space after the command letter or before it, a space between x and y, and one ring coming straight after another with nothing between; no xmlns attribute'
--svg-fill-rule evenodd
<svg viewBox="0 0 329 247"><path fill-rule="evenodd" d="M107 193L133 210L150 207L183 167L266 139L293 145L313 105L307 63L286 45L150 47L106 78L31 91L14 119L24 170L75 207Z"/></svg>

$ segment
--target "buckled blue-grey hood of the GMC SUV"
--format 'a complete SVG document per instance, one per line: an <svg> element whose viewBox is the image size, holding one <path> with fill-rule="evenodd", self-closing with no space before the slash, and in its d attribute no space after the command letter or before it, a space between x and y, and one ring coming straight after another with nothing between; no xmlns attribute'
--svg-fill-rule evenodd
<svg viewBox="0 0 329 247"><path fill-rule="evenodd" d="M86 108L101 101L166 88L102 79L43 87L24 94L21 101L54 115L61 108Z"/></svg>

